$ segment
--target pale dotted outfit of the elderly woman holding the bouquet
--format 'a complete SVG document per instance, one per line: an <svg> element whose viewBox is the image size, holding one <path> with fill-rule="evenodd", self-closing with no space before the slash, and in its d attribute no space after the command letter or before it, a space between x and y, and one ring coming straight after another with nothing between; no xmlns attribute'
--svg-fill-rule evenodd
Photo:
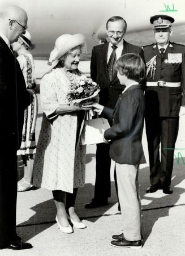
<svg viewBox="0 0 185 256"><path fill-rule="evenodd" d="M75 74L75 81L83 77L83 74ZM62 68L51 70L41 80L44 116L33 166L33 184L48 190L72 193L74 187L82 187L85 182L86 148L78 143L75 150L79 112L52 115L59 103L67 103L69 86L70 81ZM84 111L80 112L85 116ZM81 129L83 124L84 121Z"/></svg>

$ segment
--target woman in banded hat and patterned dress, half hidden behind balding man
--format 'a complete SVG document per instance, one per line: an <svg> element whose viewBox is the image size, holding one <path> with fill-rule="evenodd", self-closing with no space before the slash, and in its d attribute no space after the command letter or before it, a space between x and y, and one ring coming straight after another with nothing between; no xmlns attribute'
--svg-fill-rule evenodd
<svg viewBox="0 0 185 256"><path fill-rule="evenodd" d="M36 87L35 66L32 54L29 52L33 49L30 33L25 31L24 35L12 44L12 48L18 54L17 59L24 75L25 85L33 96L32 103L25 109L22 141L18 151L24 163L24 177L18 182L18 191L27 191L33 187L31 181L36 153L35 126L38 111L37 96L33 90Z"/></svg>

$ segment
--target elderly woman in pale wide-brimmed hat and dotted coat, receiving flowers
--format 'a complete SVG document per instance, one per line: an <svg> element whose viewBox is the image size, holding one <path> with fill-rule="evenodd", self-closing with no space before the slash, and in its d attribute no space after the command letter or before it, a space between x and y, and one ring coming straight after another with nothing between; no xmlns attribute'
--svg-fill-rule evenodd
<svg viewBox="0 0 185 256"><path fill-rule="evenodd" d="M85 146L79 144L88 106L68 104L71 83L85 75L78 70L85 40L81 34L62 35L55 41L49 64L58 64L41 80L40 96L44 116L33 167L33 184L53 192L57 207L56 221L64 233L85 228L75 213L78 187L85 181Z"/></svg>

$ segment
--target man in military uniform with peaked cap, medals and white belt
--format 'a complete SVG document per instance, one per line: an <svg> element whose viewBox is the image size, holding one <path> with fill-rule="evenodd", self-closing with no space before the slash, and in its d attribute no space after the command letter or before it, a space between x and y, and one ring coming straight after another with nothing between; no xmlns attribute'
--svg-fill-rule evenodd
<svg viewBox="0 0 185 256"><path fill-rule="evenodd" d="M160 188L165 194L173 192L170 184L179 111L185 105L185 46L170 42L173 22L167 15L151 17L156 43L143 47L147 66L145 122L151 184L148 193Z"/></svg>

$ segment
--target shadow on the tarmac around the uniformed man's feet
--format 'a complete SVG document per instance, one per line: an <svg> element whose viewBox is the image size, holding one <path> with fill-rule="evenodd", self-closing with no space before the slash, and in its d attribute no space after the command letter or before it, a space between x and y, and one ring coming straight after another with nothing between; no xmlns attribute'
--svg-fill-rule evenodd
<svg viewBox="0 0 185 256"><path fill-rule="evenodd" d="M185 192L185 189L183 187L180 187L180 183L184 181L185 177L185 166L183 164L183 161L179 161L179 163L177 163L174 160L174 169L172 175L173 179L171 181L173 194L171 195L166 195L162 193L162 190L151 194L145 194L145 189L147 188L149 183L144 188L144 176L146 172L149 175L149 167L142 169L140 172L141 199L148 200L149 202L147 205L143 205L142 207L142 226L144 242L150 236L150 233L152 233L152 228L156 221L161 217L169 216L169 211L171 207L175 207L175 204L177 204L178 200L180 199L180 195L182 195ZM177 205L182 204L179 203Z"/></svg>

